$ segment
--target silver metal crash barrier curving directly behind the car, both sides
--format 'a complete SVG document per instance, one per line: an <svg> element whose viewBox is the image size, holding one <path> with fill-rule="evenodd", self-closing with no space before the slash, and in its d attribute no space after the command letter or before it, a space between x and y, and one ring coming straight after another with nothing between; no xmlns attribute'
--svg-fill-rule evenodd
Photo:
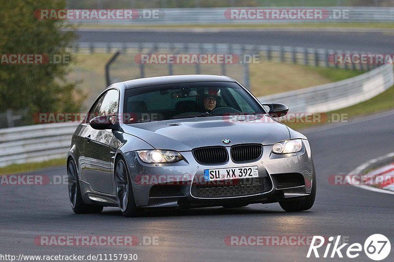
<svg viewBox="0 0 394 262"><path fill-rule="evenodd" d="M393 65L360 76L260 97L263 103L287 104L292 112L327 112L367 100L394 84ZM77 123L51 123L0 129L0 167L65 157Z"/></svg>

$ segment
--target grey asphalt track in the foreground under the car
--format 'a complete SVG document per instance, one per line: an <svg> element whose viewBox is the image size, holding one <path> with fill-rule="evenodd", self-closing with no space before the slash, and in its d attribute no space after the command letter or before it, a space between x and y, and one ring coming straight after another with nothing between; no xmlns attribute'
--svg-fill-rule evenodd
<svg viewBox="0 0 394 262"><path fill-rule="evenodd" d="M342 252L344 259L306 259L308 246L228 246L224 239L233 235L342 235L350 243L363 245L369 235L382 233L393 245L393 195L328 183L329 175L348 174L365 161L393 151L393 122L394 111L305 131L318 191L315 205L298 213L286 213L279 204L252 204L162 211L141 218L125 218L116 208L76 215L68 203L66 184L1 185L0 254L137 254L140 261L350 261L346 252ZM66 168L32 174L66 175ZM159 245L39 246L34 237L40 235L132 235L140 240L158 236ZM385 261L393 261L393 249ZM361 252L352 261L371 260Z"/></svg>

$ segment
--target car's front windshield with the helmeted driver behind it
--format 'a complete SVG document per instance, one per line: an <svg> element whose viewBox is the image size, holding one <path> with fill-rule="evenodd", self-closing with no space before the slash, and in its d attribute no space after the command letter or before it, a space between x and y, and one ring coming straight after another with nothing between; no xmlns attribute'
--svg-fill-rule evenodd
<svg viewBox="0 0 394 262"><path fill-rule="evenodd" d="M198 82L131 88L125 92L125 123L176 118L265 114L232 82Z"/></svg>

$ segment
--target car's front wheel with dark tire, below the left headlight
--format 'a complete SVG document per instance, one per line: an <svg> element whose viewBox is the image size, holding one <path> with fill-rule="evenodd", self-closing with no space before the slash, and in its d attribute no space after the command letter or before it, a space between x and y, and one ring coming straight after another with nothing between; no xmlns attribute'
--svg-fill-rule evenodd
<svg viewBox="0 0 394 262"><path fill-rule="evenodd" d="M125 217L138 217L143 214L142 209L135 204L129 171L126 161L119 157L115 165L116 199L119 209Z"/></svg>

